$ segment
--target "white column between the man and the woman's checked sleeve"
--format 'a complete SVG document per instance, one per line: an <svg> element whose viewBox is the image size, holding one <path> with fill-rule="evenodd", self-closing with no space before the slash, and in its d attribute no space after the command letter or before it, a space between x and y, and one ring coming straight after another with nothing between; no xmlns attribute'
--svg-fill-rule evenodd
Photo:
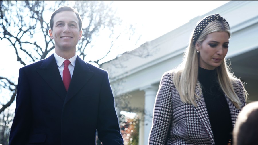
<svg viewBox="0 0 258 145"><path fill-rule="evenodd" d="M148 137L150 133L150 128L152 124L153 108L155 103L155 97L158 91L158 86L150 85L142 88L145 92L145 102L144 102L144 135L143 144L148 144ZM140 138L139 138L140 141Z"/></svg>

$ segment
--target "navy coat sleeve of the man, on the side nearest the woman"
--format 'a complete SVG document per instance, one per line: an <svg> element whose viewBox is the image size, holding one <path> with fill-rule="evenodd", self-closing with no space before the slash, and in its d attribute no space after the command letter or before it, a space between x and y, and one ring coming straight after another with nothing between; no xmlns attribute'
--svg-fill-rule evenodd
<svg viewBox="0 0 258 145"><path fill-rule="evenodd" d="M101 85L98 122L98 138L103 145L123 145L124 141L120 133L120 126L115 110L114 96L110 86L108 73L105 72Z"/></svg>

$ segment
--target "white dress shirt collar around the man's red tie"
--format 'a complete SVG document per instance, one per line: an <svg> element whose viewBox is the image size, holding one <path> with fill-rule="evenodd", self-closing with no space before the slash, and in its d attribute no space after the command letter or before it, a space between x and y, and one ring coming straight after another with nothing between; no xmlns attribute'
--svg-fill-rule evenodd
<svg viewBox="0 0 258 145"><path fill-rule="evenodd" d="M56 59L56 64L58 66L60 75L63 79L64 60L66 60L66 59L58 56L56 53L54 53L54 56L55 56L55 59ZM71 63L68 65L68 69L70 71L71 78L73 76L73 70L74 70L74 66L75 66L76 57L77 57L77 55L75 54L75 56L73 56L72 58L69 59Z"/></svg>

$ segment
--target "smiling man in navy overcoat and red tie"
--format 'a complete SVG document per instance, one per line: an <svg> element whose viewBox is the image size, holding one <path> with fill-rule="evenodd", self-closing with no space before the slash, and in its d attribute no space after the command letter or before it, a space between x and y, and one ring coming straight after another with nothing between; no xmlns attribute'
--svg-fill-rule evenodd
<svg viewBox="0 0 258 145"><path fill-rule="evenodd" d="M20 68L9 145L92 145L96 130L104 145L123 144L107 71L75 54L81 27L71 7L52 14L55 53Z"/></svg>

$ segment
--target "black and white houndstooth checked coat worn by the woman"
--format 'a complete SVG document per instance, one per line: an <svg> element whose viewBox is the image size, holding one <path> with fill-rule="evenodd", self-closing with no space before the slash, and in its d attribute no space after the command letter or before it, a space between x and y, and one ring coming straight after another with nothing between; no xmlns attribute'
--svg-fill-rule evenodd
<svg viewBox="0 0 258 145"><path fill-rule="evenodd" d="M203 95L196 98L197 107L183 103L170 74L164 73L160 81L148 144L214 145L214 136ZM199 81L197 83L199 84ZM246 105L243 84L239 80L233 83L233 87L242 103L242 109ZM195 93L200 94L197 87ZM234 126L241 109L237 109L226 95L225 97Z"/></svg>

